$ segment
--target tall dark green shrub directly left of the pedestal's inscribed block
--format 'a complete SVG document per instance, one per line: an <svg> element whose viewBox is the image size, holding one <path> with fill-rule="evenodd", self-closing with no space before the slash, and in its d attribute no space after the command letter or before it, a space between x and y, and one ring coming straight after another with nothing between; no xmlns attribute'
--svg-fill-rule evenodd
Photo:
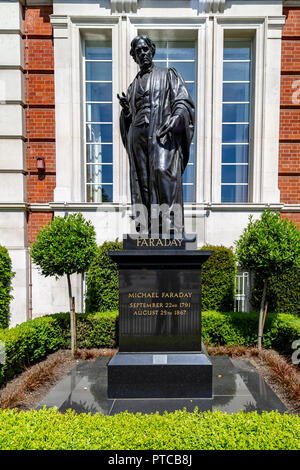
<svg viewBox="0 0 300 470"><path fill-rule="evenodd" d="M87 273L86 311L104 312L119 308L119 273L108 251L120 251L122 242L105 242L96 250Z"/></svg>

